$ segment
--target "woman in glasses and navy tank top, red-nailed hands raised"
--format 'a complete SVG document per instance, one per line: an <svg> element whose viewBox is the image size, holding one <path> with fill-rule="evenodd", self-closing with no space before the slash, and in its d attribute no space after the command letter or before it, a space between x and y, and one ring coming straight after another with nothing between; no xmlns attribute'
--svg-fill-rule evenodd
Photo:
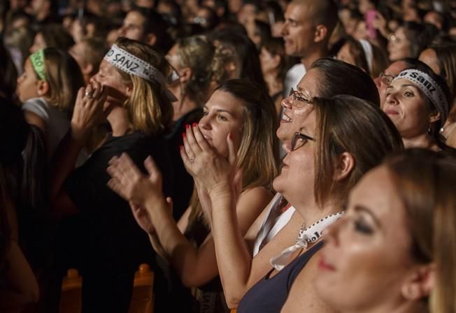
<svg viewBox="0 0 456 313"><path fill-rule="evenodd" d="M301 229L294 233L290 247L270 260L273 268L245 293L238 312L332 312L311 286L324 231L343 215L348 190L359 177L387 153L402 147L399 133L377 105L346 95L313 98L309 105L299 131L285 142L287 155L273 181L274 189L301 216ZM228 233L239 237L231 213L238 189L236 157L230 153L228 160L218 157L209 161L206 154L211 155L211 149L198 129L188 142L185 152L201 151L197 158L205 160L201 166L189 162L185 154L183 157L211 201L218 267L226 286L236 278L233 273L238 271L238 263L248 260L245 249L237 263L230 258L242 248L227 241ZM232 145L229 138L227 142Z"/></svg>

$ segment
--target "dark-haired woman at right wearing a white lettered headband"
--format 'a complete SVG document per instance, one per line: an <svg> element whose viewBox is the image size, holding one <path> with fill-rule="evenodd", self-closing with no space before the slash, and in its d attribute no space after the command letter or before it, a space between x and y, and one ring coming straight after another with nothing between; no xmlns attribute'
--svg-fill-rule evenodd
<svg viewBox="0 0 456 313"><path fill-rule="evenodd" d="M451 108L448 85L429 66L401 71L386 89L383 111L396 125L405 147L454 153L440 136Z"/></svg>

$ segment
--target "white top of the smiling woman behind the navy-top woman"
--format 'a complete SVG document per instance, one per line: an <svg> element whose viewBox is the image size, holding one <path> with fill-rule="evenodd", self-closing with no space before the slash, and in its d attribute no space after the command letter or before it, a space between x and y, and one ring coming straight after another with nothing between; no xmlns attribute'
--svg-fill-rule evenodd
<svg viewBox="0 0 456 313"><path fill-rule="evenodd" d="M256 256L269 241L290 221L294 213L294 208L290 206L285 212L280 214L280 202L283 196L277 193L269 203L262 226L259 228L257 238L253 243L253 256Z"/></svg>

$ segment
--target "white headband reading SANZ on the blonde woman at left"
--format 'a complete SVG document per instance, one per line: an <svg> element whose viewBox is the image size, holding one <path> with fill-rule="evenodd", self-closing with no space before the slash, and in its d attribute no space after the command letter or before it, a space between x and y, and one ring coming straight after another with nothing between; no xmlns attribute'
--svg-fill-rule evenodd
<svg viewBox="0 0 456 313"><path fill-rule="evenodd" d="M148 64L148 62L135 57L133 54L119 48L117 45L112 45L108 53L104 56L104 59L113 66L120 68L125 73L136 75L150 82L158 82L162 85L166 97L169 101L176 101L176 97L166 88L166 80L162 72L157 70L154 66Z"/></svg>

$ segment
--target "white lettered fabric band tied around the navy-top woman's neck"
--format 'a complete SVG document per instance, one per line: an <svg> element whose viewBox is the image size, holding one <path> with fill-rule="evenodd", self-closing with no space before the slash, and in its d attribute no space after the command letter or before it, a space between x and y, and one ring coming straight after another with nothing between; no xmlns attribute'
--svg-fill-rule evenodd
<svg viewBox="0 0 456 313"><path fill-rule="evenodd" d="M323 231L325 231L326 228L333 224L334 221L340 219L343 213L344 212L342 211L337 212L336 214L328 215L327 217L316 221L308 228L305 228L303 225L301 231L299 231L296 243L291 247L287 247L287 249L283 250L283 252L280 252L278 256L273 256L269 260L269 263L271 263L273 268L276 270L283 270L283 268L285 268L285 266L288 264L288 259L290 259L290 256L293 252L295 252L297 249L306 249L308 243L317 241L322 236Z"/></svg>

